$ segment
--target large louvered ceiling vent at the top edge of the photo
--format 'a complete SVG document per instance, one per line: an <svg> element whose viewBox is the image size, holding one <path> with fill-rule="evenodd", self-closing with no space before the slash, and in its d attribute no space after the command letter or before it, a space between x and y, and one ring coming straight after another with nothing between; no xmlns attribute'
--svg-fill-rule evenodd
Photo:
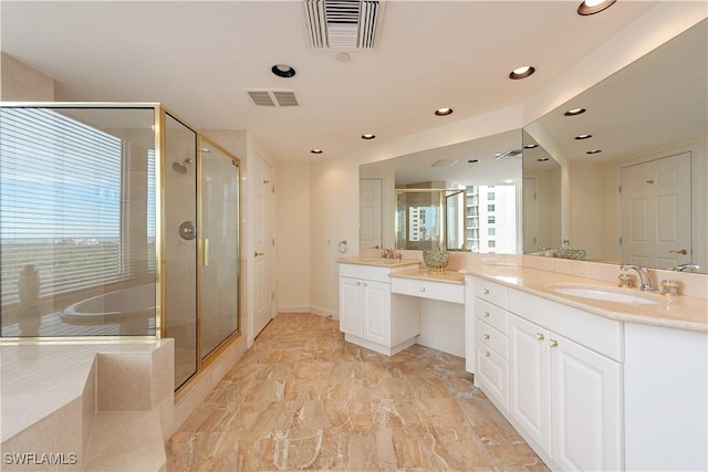
<svg viewBox="0 0 708 472"><path fill-rule="evenodd" d="M304 0L310 45L373 49L383 12L377 0Z"/></svg>

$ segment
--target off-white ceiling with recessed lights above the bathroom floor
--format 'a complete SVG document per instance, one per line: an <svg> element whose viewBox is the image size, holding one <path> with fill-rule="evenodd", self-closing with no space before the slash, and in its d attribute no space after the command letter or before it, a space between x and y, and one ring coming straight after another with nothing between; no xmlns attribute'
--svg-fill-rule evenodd
<svg viewBox="0 0 708 472"><path fill-rule="evenodd" d="M1 49L56 81L58 101L162 102L201 129L248 129L279 160L309 161L519 104L655 6L621 1L385 2L377 46L309 48L301 1L0 4ZM271 74L273 64L298 70ZM507 78L523 64L537 73ZM259 107L246 90L294 91ZM455 114L437 117L442 106ZM322 157L310 154L321 148Z"/></svg>

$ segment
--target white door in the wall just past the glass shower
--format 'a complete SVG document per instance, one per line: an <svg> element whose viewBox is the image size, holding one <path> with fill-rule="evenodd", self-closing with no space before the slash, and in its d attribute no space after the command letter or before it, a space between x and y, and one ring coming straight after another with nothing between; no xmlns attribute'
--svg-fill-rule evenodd
<svg viewBox="0 0 708 472"><path fill-rule="evenodd" d="M254 307L253 307L253 337L266 327L273 318L275 284L273 274L273 168L256 155L254 187L256 214L252 216L254 224L253 252L253 281L254 281Z"/></svg>

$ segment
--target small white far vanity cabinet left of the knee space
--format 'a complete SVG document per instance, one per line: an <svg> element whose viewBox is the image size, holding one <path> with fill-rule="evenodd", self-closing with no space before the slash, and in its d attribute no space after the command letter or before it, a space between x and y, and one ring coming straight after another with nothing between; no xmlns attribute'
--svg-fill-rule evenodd
<svg viewBox="0 0 708 472"><path fill-rule="evenodd" d="M340 264L340 331L344 339L392 356L415 344L415 300L392 297L392 268Z"/></svg>

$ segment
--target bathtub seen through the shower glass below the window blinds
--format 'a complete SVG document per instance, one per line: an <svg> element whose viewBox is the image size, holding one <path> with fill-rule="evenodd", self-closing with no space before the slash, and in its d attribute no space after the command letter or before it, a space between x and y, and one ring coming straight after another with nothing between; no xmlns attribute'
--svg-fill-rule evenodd
<svg viewBox="0 0 708 472"><path fill-rule="evenodd" d="M61 319L70 324L119 324L121 335L154 335L155 285L146 284L92 296L67 306Z"/></svg>

